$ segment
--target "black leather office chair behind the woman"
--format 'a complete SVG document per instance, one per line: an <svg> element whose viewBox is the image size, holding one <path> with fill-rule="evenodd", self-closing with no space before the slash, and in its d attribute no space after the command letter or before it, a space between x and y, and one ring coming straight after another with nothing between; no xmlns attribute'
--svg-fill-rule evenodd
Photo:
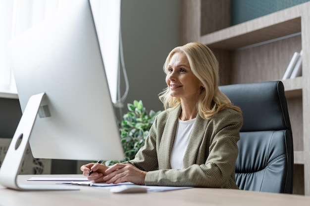
<svg viewBox="0 0 310 206"><path fill-rule="evenodd" d="M292 193L293 138L281 81L220 86L243 112L236 182L240 189Z"/></svg>

